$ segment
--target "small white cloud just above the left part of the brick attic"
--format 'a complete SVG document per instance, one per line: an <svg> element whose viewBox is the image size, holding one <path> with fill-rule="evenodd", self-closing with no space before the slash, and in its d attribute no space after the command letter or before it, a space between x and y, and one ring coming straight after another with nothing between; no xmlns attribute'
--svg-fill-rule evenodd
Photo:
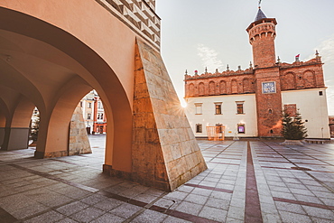
<svg viewBox="0 0 334 223"><path fill-rule="evenodd" d="M215 72L216 69L223 69L223 62L218 59L218 52L210 49L203 44L199 44L197 47L198 55L202 61L203 68L207 67L208 72Z"/></svg>

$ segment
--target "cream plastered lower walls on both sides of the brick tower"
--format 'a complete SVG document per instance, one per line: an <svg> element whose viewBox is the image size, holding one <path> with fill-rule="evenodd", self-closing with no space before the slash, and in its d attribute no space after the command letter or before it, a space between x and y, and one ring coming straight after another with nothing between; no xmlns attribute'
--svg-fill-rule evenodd
<svg viewBox="0 0 334 223"><path fill-rule="evenodd" d="M224 125L227 137L258 136L255 94L194 97L186 101L185 112L196 137L207 137L206 126L214 125ZM308 138L330 138L326 88L283 91L282 105L296 105ZM240 126L243 127L238 129Z"/></svg>

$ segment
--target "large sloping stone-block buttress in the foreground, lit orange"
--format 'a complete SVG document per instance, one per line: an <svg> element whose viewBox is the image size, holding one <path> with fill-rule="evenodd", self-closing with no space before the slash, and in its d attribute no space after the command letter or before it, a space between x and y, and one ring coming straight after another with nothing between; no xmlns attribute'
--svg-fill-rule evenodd
<svg viewBox="0 0 334 223"><path fill-rule="evenodd" d="M159 52L137 40L132 178L174 190L207 169Z"/></svg>

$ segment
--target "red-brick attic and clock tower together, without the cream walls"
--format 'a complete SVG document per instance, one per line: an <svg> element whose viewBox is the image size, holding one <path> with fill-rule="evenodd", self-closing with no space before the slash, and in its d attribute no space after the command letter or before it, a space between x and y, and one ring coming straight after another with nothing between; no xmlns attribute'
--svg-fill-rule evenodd
<svg viewBox="0 0 334 223"><path fill-rule="evenodd" d="M259 13L264 15L259 9ZM259 18L258 16L256 19ZM253 48L254 67L246 70L185 75L185 98L255 93L257 131L260 137L281 135L282 91L324 88L322 62L314 59L289 64L276 61L274 18L261 17L246 32ZM264 89L265 88L265 89Z"/></svg>

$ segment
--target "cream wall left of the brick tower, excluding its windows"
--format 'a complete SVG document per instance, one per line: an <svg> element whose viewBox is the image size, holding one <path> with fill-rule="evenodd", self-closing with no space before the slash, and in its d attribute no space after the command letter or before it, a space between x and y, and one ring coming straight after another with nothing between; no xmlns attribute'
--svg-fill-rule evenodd
<svg viewBox="0 0 334 223"><path fill-rule="evenodd" d="M185 113L195 136L207 136L206 126L218 123L226 126L225 136L235 136L237 124L245 124L246 128L246 133L238 134L239 137L257 136L255 94L186 98L186 101ZM237 114L236 101L245 101L245 114ZM222 102L222 115L215 115L215 102ZM195 103L202 103L202 115L195 114ZM202 124L201 134L196 133L196 124Z"/></svg>

